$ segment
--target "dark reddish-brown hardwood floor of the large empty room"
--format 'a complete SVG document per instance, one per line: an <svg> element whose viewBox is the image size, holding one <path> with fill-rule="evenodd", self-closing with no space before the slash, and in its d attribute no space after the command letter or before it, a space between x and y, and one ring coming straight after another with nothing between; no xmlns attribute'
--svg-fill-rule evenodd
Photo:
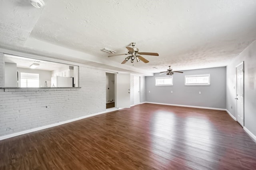
<svg viewBox="0 0 256 170"><path fill-rule="evenodd" d="M141 104L2 140L0 169L252 170L256 143L226 111Z"/></svg>

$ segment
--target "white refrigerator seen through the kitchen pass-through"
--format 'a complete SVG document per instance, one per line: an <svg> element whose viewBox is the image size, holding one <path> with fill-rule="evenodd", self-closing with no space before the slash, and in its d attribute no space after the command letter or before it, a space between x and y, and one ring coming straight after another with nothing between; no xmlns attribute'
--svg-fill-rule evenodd
<svg viewBox="0 0 256 170"><path fill-rule="evenodd" d="M51 87L73 87L73 77L54 76Z"/></svg>

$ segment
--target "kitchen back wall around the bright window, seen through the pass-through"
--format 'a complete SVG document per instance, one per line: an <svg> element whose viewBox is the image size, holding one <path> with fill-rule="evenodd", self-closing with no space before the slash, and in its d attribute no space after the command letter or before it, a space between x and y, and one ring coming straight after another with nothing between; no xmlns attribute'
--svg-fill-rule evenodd
<svg viewBox="0 0 256 170"><path fill-rule="evenodd" d="M19 67L17 67L17 70L19 72L19 82L20 82L20 73L28 72L28 73L39 74L39 87L44 87L45 81L47 81L48 87L51 86L51 77L52 77L51 71L30 69L30 68L19 68ZM19 83L19 87L20 87L20 83Z"/></svg>

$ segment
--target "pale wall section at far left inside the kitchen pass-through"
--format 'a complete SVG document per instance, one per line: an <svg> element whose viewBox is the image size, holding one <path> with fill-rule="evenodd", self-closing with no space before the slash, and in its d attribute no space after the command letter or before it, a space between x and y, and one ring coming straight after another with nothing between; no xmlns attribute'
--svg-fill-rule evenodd
<svg viewBox="0 0 256 170"><path fill-rule="evenodd" d="M17 64L4 63L5 87L17 87Z"/></svg>

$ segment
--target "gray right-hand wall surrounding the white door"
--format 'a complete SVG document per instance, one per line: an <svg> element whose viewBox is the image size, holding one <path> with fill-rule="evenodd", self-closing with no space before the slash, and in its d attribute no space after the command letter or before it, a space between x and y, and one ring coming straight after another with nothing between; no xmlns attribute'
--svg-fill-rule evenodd
<svg viewBox="0 0 256 170"><path fill-rule="evenodd" d="M256 135L256 41L227 66L226 108L236 117L236 66L244 61L244 127ZM233 106L233 109L230 108Z"/></svg>

